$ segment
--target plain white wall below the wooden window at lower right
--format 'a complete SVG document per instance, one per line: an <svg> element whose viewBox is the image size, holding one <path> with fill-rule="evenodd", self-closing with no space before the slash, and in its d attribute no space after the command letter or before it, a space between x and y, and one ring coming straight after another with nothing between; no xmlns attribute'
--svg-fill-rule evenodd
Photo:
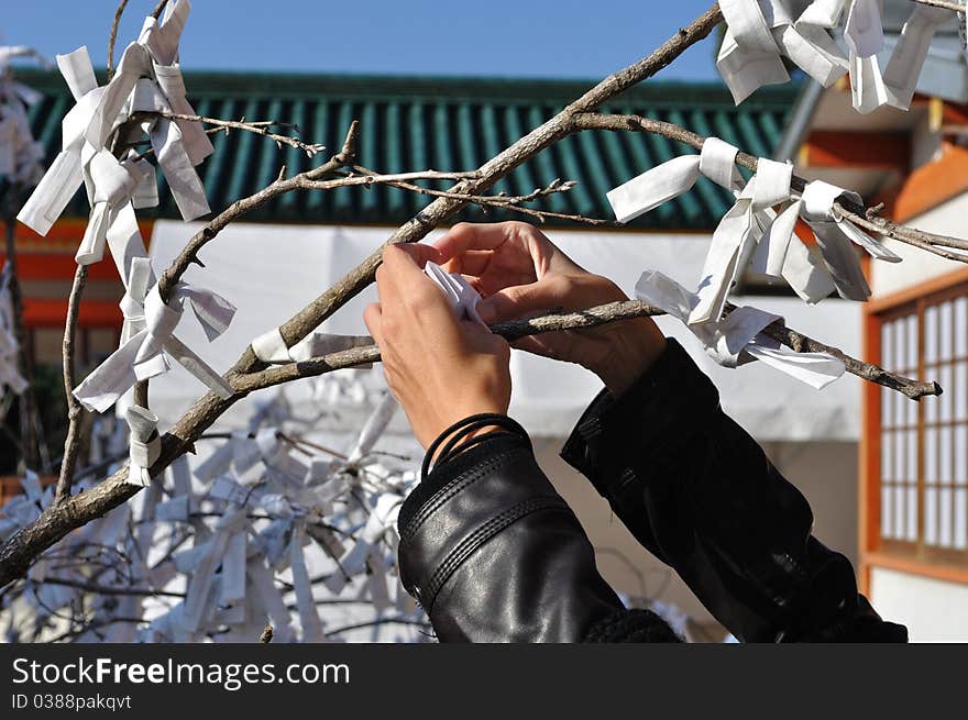
<svg viewBox="0 0 968 720"><path fill-rule="evenodd" d="M875 567L870 588L880 616L908 625L912 642L968 642L968 585Z"/></svg>

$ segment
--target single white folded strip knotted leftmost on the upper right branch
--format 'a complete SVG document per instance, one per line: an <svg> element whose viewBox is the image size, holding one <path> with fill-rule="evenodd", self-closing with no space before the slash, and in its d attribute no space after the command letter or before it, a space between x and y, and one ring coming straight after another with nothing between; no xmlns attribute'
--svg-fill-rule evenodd
<svg viewBox="0 0 968 720"><path fill-rule="evenodd" d="M738 152L718 137L707 137L698 155L675 157L609 190L606 197L616 220L630 222L654 210L688 192L703 175L727 190L739 191L743 178L735 164Z"/></svg>

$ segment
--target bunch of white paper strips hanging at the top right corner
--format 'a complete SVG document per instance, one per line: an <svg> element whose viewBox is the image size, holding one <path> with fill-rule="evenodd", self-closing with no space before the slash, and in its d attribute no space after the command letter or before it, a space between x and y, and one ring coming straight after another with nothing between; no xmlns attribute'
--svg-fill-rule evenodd
<svg viewBox="0 0 968 720"><path fill-rule="evenodd" d="M799 15L791 0L722 0L726 36L717 66L737 103L755 90L790 80L783 57L831 87L850 74L854 107L871 112L889 104L906 110L937 30L950 10L911 3L890 60L882 68L883 0L814 0ZM832 32L843 31L846 52Z"/></svg>

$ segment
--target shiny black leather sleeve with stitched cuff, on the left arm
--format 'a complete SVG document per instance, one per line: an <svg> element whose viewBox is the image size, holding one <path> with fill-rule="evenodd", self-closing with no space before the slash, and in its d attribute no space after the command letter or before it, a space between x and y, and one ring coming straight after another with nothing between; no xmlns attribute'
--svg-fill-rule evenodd
<svg viewBox="0 0 968 720"><path fill-rule="evenodd" d="M674 641L595 568L530 441L498 433L438 465L398 520L400 577L441 642Z"/></svg>

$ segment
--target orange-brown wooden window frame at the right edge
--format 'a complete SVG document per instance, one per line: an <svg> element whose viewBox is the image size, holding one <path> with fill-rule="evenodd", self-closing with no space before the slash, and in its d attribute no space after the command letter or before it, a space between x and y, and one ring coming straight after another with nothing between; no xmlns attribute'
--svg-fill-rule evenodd
<svg viewBox="0 0 968 720"><path fill-rule="evenodd" d="M881 332L886 322L916 313L919 315L917 370L924 370L924 330L921 319L927 307L968 293L968 268L877 298L864 309L864 356L871 363L882 362ZM961 358L953 358L952 364ZM895 368L887 368L895 369ZM865 383L861 394L861 433L859 457L858 545L860 564L858 584L870 591L870 571L883 567L935 579L968 584L968 551L924 545L924 468L923 454L917 457L917 540L916 542L881 538L881 388ZM924 437L924 410L917 411L920 447Z"/></svg>

